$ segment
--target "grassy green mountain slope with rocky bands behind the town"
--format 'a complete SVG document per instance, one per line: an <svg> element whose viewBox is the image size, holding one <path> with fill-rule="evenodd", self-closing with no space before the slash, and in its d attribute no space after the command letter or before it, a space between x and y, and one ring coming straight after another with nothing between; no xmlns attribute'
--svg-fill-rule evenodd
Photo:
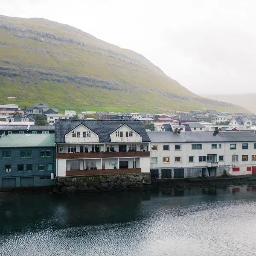
<svg viewBox="0 0 256 256"><path fill-rule="evenodd" d="M244 108L195 95L143 55L45 19L0 15L0 103L59 110L173 111Z"/></svg>

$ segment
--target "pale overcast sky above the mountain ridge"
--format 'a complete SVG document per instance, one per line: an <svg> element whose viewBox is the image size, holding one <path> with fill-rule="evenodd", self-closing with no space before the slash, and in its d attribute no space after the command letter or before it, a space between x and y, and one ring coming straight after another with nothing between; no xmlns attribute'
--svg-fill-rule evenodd
<svg viewBox="0 0 256 256"><path fill-rule="evenodd" d="M256 93L255 0L0 0L132 49L197 94Z"/></svg>

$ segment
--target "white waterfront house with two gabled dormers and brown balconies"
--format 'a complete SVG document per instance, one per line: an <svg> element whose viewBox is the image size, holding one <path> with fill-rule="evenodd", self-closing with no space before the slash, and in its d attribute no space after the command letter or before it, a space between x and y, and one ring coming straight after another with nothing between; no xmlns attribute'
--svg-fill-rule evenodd
<svg viewBox="0 0 256 256"><path fill-rule="evenodd" d="M139 120L60 119L56 176L150 170L150 140Z"/></svg>

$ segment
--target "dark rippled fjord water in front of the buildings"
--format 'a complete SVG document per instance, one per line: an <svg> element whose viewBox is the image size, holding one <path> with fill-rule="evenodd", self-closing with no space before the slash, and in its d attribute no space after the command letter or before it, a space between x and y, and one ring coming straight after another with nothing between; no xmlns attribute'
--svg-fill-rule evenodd
<svg viewBox="0 0 256 256"><path fill-rule="evenodd" d="M7 195L0 255L256 255L255 188Z"/></svg>

